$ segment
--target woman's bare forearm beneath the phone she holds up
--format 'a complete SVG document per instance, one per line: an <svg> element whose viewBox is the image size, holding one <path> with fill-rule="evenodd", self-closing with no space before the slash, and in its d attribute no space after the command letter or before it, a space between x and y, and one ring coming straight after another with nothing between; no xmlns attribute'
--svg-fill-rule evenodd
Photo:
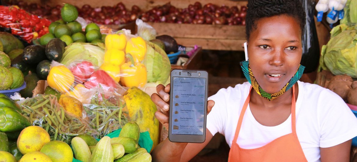
<svg viewBox="0 0 357 162"><path fill-rule="evenodd" d="M152 151L154 162L187 162L195 157L212 139L212 134L206 129L206 141L203 143L170 142L169 138L162 141Z"/></svg>

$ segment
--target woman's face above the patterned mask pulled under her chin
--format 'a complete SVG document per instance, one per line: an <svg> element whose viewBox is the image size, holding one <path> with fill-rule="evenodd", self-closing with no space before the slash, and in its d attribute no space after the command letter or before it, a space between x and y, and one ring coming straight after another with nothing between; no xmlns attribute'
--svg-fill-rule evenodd
<svg viewBox="0 0 357 162"><path fill-rule="evenodd" d="M301 29L295 18L278 15L255 21L248 41L252 73L267 93L276 93L296 73L302 56Z"/></svg>

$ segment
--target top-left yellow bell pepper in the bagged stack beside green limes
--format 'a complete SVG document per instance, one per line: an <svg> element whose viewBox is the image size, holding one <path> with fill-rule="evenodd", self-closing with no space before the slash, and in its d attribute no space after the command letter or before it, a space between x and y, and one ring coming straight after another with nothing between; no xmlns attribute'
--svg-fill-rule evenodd
<svg viewBox="0 0 357 162"><path fill-rule="evenodd" d="M105 48L124 50L126 45L126 37L124 34L108 34L105 37Z"/></svg>

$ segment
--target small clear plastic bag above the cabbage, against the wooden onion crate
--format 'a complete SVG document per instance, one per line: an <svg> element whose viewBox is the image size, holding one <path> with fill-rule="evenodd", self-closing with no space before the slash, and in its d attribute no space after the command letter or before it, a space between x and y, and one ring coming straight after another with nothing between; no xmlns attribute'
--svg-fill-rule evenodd
<svg viewBox="0 0 357 162"><path fill-rule="evenodd" d="M156 39L156 30L140 19L136 19L137 35L146 41Z"/></svg>

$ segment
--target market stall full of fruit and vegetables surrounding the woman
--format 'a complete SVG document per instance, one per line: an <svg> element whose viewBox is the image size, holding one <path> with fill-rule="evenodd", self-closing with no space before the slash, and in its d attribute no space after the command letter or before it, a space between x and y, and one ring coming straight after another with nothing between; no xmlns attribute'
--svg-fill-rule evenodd
<svg viewBox="0 0 357 162"><path fill-rule="evenodd" d="M172 69L222 64L204 61L212 53L241 56L223 64L242 61L246 5L244 0L1 1L0 161L151 161L152 150L168 136L150 98L156 86L170 83ZM308 73L300 80L338 94L357 117L357 0L306 6L313 9L304 31L311 37L303 40L309 44L302 61ZM211 74L208 92L246 82L241 70L232 71L240 78ZM223 138L213 137L193 161L226 161L229 146L221 144ZM357 161L356 152L357 137L351 162Z"/></svg>

